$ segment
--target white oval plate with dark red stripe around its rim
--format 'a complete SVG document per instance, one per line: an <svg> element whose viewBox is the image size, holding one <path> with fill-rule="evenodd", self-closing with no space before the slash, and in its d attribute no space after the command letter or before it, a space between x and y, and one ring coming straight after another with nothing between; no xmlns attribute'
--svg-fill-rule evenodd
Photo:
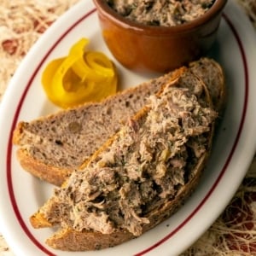
<svg viewBox="0 0 256 256"><path fill-rule="evenodd" d="M12 132L19 120L32 120L56 108L47 100L40 77L49 60L66 55L79 38L90 48L108 52L91 1L81 1L44 33L11 80L0 113L1 231L16 255L177 255L209 228L236 192L256 148L256 36L233 1L227 4L210 56L224 67L228 102L212 155L195 193L180 210L154 230L124 244L90 253L55 251L44 244L53 230L33 230L29 216L51 194L53 186L24 172L15 158ZM113 57L112 57L113 58ZM137 74L116 63L124 87L155 74ZM2 63L4 65L4 63Z"/></svg>

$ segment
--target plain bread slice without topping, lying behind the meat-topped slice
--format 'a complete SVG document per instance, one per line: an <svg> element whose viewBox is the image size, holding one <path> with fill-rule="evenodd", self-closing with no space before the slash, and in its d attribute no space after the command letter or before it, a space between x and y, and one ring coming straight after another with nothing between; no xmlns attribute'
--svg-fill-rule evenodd
<svg viewBox="0 0 256 256"><path fill-rule="evenodd" d="M224 73L216 61L201 58L189 68L207 84L214 108L224 105ZM145 105L172 76L168 73L110 96L101 103L88 103L30 122L21 121L14 132L20 165L34 176L61 185L108 137Z"/></svg>

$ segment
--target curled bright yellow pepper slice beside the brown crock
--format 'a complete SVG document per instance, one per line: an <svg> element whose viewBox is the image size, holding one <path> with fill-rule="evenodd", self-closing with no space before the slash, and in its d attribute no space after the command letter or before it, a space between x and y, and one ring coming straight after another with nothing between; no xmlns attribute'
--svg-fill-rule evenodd
<svg viewBox="0 0 256 256"><path fill-rule="evenodd" d="M42 75L49 100L61 108L83 102L99 102L117 90L117 72L106 55L84 50L89 40L80 39L66 57L50 61Z"/></svg>

